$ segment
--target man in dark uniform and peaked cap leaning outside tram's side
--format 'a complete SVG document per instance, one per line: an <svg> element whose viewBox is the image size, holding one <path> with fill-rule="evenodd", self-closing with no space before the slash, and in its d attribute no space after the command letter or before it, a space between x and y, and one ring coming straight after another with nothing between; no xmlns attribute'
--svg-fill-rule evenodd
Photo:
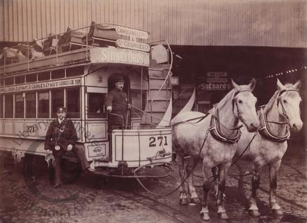
<svg viewBox="0 0 307 223"><path fill-rule="evenodd" d="M45 150L52 151L56 162L54 187L61 186L61 159L67 151L73 151L77 154L81 162L83 171L93 171L90 169L88 161L84 154L83 146L76 144L77 131L72 121L66 118L65 107L56 109L56 120L50 123L45 137Z"/></svg>

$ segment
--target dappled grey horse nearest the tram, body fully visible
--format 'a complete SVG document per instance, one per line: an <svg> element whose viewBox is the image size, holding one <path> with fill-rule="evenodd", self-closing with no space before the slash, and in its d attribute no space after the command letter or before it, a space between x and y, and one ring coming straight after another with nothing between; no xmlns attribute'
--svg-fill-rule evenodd
<svg viewBox="0 0 307 223"><path fill-rule="evenodd" d="M200 112L184 112L175 117L173 125L173 146L178 155L179 174L182 182L180 203L187 204L187 192L183 182L187 178L192 203L200 203L192 180L192 172L197 160L203 162L203 203L200 215L210 220L207 209L207 194L212 188L211 169L219 167L219 187L217 195L218 213L222 219L228 215L223 207L223 191L230 162L237 151L240 137L239 121L253 132L259 126L255 112L256 98L251 93L255 79L248 85L239 86L232 81L233 89L216 105L205 118ZM199 117L199 118L198 118ZM209 134L210 132L210 134ZM187 176L184 176L184 155L190 155Z"/></svg>

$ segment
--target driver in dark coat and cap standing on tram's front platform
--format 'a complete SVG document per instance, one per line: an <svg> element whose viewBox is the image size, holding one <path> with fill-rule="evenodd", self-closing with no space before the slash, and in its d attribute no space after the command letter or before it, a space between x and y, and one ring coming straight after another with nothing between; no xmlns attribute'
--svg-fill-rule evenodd
<svg viewBox="0 0 307 223"><path fill-rule="evenodd" d="M109 91L105 102L107 112L109 112L109 133L112 130L123 129L127 125L127 109L131 109L132 105L123 91L124 84L123 76L116 77L115 89Z"/></svg>

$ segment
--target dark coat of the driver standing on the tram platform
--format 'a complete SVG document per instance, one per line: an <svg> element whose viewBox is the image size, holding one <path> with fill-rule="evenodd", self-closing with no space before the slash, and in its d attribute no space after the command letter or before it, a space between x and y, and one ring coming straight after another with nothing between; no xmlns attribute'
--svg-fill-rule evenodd
<svg viewBox="0 0 307 223"><path fill-rule="evenodd" d="M128 98L124 91L120 91L118 89L113 89L112 91L109 91L105 105L107 107L112 107L111 113L118 114L120 116L123 116L124 118L123 123L123 118L121 118L120 116L114 116L112 114L109 114L109 127L111 127L112 125L118 125L118 127L121 127L123 125L125 126L128 103Z"/></svg>

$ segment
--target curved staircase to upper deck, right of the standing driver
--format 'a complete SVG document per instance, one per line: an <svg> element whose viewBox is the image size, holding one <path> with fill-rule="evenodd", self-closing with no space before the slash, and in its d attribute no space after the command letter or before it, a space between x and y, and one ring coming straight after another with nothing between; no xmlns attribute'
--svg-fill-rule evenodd
<svg viewBox="0 0 307 223"><path fill-rule="evenodd" d="M155 128L162 121L172 98L171 82L165 68L148 68L148 99L140 128ZM169 77L169 76L168 76Z"/></svg>

